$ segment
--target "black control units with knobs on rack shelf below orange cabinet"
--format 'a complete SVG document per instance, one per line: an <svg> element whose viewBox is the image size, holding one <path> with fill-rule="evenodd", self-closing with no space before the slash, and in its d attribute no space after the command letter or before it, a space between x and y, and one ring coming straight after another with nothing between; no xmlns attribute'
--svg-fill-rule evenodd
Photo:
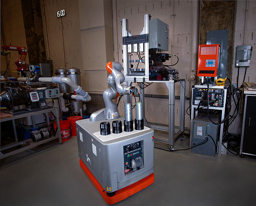
<svg viewBox="0 0 256 206"><path fill-rule="evenodd" d="M193 88L193 105L207 105L207 88ZM209 89L209 106L223 107L224 90Z"/></svg>

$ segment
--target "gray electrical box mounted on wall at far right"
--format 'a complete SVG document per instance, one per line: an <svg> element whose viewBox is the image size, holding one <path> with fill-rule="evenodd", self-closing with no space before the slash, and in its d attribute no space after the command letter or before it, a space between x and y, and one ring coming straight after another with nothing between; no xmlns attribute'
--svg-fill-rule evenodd
<svg viewBox="0 0 256 206"><path fill-rule="evenodd" d="M251 51L251 45L240 45L236 47L236 67L250 66Z"/></svg>

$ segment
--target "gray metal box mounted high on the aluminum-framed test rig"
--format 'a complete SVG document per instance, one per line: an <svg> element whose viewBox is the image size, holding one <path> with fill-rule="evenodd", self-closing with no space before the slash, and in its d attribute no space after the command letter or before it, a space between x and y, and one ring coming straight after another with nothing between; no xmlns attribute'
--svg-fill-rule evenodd
<svg viewBox="0 0 256 206"><path fill-rule="evenodd" d="M168 51L169 25L159 19L149 22L149 48Z"/></svg>

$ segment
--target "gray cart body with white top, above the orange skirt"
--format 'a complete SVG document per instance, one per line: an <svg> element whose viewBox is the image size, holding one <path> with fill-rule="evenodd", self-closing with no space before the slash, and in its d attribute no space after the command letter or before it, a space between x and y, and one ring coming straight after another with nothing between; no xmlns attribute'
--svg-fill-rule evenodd
<svg viewBox="0 0 256 206"><path fill-rule="evenodd" d="M107 193L125 188L154 172L154 130L144 127L115 134L100 134L100 123L76 121L79 158Z"/></svg>

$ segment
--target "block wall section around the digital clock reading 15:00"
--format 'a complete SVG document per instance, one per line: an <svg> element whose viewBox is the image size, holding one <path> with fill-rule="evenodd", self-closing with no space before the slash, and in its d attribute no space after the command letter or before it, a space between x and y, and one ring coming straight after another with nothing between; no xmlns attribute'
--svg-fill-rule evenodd
<svg viewBox="0 0 256 206"><path fill-rule="evenodd" d="M78 0L44 0L41 10L43 29L48 42L46 54L55 69L76 67L83 70ZM65 9L65 16L57 17L57 11ZM45 41L47 41L45 38ZM47 49L46 49L47 50Z"/></svg>

